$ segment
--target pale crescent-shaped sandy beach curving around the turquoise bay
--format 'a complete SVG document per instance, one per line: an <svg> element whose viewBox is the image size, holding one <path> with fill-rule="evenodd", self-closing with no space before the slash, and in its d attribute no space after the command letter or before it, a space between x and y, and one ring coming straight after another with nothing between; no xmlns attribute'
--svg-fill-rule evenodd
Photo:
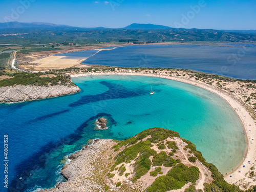
<svg viewBox="0 0 256 192"><path fill-rule="evenodd" d="M256 162L254 159L256 158L256 125L251 116L251 113L246 110L246 107L240 102L240 97L236 95L232 95L225 90L218 90L214 86L206 84L202 81L195 80L194 78L186 78L186 77L174 77L167 76L163 74L144 74L144 73L136 73L136 72L106 72L106 73L81 73L81 74L70 74L71 77L81 77L81 76L91 76L91 75L138 75L138 76L150 76L150 77L159 77L166 78L170 80L180 81L184 83L191 84L193 86L197 86L203 88L207 91L215 93L226 100L227 103L231 106L231 108L236 112L238 117L240 118L247 142L247 150L245 152L245 157L240 165L236 168L233 168L231 173L227 173L224 175L225 180L228 183L239 185L241 188L245 189L251 185L255 185L256 182L250 178L249 173L252 172L253 167L256 167ZM230 86L232 88L232 86ZM236 110L235 110L236 109ZM250 163L248 163L250 161ZM243 167L245 165L245 167ZM241 171L241 172L240 172ZM231 177L232 176L232 177Z"/></svg>

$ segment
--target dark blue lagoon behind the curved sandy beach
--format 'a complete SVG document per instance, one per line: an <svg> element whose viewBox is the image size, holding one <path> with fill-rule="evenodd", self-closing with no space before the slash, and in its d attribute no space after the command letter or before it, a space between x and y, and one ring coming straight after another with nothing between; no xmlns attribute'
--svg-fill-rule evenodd
<svg viewBox="0 0 256 192"><path fill-rule="evenodd" d="M73 52L67 58L88 58L88 65L117 67L183 68L239 79L256 79L256 46L253 44L219 44L221 46L148 45L124 46L100 51L88 58L92 50ZM242 47L244 46L244 47ZM83 56L84 55L84 56Z"/></svg>

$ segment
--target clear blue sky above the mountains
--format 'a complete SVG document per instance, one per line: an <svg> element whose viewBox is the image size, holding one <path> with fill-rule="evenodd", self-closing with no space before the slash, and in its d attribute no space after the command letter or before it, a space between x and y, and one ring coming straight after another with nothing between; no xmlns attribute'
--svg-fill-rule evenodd
<svg viewBox="0 0 256 192"><path fill-rule="evenodd" d="M0 0L0 23L47 22L120 28L132 23L169 27L256 29L255 0Z"/></svg>

